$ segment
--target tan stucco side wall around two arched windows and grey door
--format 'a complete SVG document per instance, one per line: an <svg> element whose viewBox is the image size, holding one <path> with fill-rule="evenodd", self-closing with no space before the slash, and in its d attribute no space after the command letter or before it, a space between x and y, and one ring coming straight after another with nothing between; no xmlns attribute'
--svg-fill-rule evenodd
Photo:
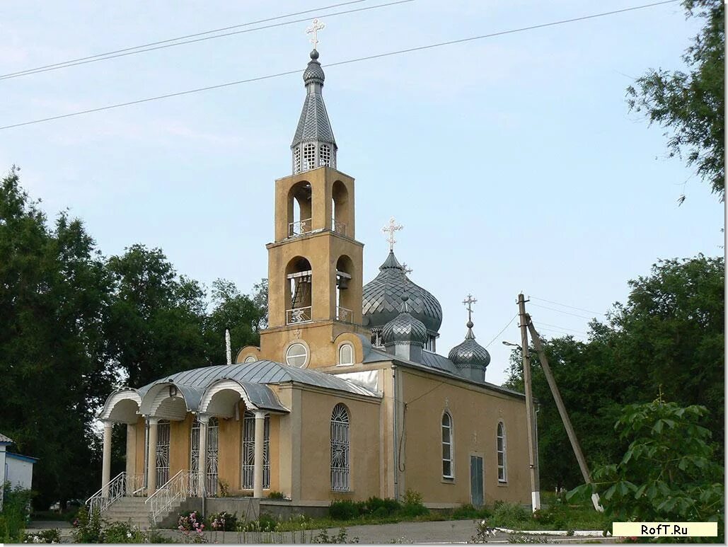
<svg viewBox="0 0 728 547"><path fill-rule="evenodd" d="M406 404L403 452L405 471L400 491L420 492L425 502L470 503L470 456L483 457L486 503L495 500L530 503L531 487L526 436L526 405L465 382L443 383L438 377L400 367L402 401ZM441 420L453 420L454 479L443 479ZM506 430L507 482L499 483L496 428Z"/></svg>

